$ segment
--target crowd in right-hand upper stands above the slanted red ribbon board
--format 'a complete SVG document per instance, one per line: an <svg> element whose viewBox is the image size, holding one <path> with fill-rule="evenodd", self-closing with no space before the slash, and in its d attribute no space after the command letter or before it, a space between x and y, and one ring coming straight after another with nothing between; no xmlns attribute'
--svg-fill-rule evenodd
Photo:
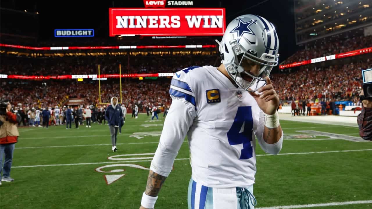
<svg viewBox="0 0 372 209"><path fill-rule="evenodd" d="M331 38L318 40L317 42L315 42L315 44L307 44L304 49L297 51L281 64L311 60L317 57L324 57L327 55L353 51L368 46L372 46L372 35L362 35L346 39L341 38L339 35L336 35Z"/></svg>

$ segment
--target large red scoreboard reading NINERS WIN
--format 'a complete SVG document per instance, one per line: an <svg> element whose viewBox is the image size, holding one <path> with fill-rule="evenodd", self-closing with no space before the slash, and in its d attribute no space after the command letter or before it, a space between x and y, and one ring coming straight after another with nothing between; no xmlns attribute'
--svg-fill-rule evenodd
<svg viewBox="0 0 372 209"><path fill-rule="evenodd" d="M110 36L222 36L224 8L110 8Z"/></svg>

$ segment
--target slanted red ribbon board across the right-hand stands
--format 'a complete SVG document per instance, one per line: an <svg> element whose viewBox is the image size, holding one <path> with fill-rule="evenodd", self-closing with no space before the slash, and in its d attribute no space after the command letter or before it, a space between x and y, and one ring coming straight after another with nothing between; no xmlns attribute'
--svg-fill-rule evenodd
<svg viewBox="0 0 372 209"><path fill-rule="evenodd" d="M357 49L354 51L349 51L349 52L344 52L340 54L333 54L333 55L328 55L325 57L317 57L311 60L304 60L300 62L293 62L290 64L285 64L285 65L279 65L279 69L285 69L285 68L292 68L292 67L298 67L301 65L309 65L317 62L324 62L324 61L329 61L329 60L336 60L336 59L341 59L345 57L352 57L360 54L367 54L372 52L372 47L369 48L364 48L364 49Z"/></svg>

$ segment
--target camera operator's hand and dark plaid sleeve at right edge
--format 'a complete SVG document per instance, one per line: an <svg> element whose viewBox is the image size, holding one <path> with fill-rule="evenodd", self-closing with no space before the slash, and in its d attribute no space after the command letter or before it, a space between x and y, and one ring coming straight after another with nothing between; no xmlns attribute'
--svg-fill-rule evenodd
<svg viewBox="0 0 372 209"><path fill-rule="evenodd" d="M359 96L364 98L363 90ZM358 115L358 126L359 135L362 139L372 141L372 99L361 99L362 100L362 112Z"/></svg>

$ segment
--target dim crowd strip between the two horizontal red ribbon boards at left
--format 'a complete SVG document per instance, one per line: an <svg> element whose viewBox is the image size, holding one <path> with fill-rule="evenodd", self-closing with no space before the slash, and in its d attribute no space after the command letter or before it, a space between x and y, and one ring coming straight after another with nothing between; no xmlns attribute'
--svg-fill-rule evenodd
<svg viewBox="0 0 372 209"><path fill-rule="evenodd" d="M84 57L1 57L1 74L7 75L71 75L121 73L174 73L193 65L214 65L217 56L84 56ZM129 64L128 64L129 61ZM128 67L129 66L129 67Z"/></svg>

